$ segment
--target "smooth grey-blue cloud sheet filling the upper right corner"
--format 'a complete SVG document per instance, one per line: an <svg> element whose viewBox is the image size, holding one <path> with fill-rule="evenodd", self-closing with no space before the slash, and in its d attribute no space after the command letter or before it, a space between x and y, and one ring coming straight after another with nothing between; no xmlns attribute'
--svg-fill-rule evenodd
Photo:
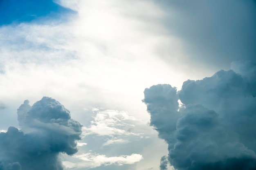
<svg viewBox="0 0 256 170"><path fill-rule="evenodd" d="M186 63L227 68L234 60L256 62L255 0L156 1L167 13L163 21L180 37ZM172 62L172 57L164 58ZM221 62L220 62L221 61Z"/></svg>

